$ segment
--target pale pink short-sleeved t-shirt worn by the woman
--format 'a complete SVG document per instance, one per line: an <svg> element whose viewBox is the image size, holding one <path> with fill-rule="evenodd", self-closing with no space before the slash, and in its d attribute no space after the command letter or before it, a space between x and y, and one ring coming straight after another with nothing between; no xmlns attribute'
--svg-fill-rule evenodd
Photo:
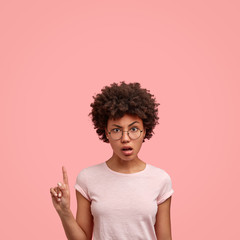
<svg viewBox="0 0 240 240"><path fill-rule="evenodd" d="M174 192L163 169L119 173L106 162L81 170L75 189L91 202L94 240L157 240L158 204Z"/></svg>

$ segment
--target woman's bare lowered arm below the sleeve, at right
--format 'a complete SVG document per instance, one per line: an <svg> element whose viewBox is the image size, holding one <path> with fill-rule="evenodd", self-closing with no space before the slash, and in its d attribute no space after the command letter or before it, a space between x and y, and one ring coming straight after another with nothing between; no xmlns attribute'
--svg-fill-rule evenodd
<svg viewBox="0 0 240 240"><path fill-rule="evenodd" d="M158 205L156 223L154 226L158 240L172 240L170 206L171 197Z"/></svg>

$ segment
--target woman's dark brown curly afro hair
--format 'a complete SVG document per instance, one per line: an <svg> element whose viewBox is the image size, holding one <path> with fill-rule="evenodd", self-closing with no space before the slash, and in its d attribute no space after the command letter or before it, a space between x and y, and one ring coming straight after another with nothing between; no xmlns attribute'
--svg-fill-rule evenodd
<svg viewBox="0 0 240 240"><path fill-rule="evenodd" d="M126 84L124 81L105 86L101 93L93 96L91 103L94 129L104 142L109 142L105 135L108 119L119 119L125 114L137 115L146 128L146 139L153 135L153 129L158 124L158 105L149 90L141 88L139 83ZM144 139L145 139L144 138ZM144 142L144 140L143 140Z"/></svg>

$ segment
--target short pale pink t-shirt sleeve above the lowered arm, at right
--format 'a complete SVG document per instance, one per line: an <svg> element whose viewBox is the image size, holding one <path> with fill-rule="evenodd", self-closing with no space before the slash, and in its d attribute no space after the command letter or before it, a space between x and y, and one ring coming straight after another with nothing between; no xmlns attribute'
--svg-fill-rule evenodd
<svg viewBox="0 0 240 240"><path fill-rule="evenodd" d="M157 204L163 203L166 199L168 199L174 193L172 189L172 180L168 173L164 172L165 176L162 180L162 186L160 193L157 197Z"/></svg>

